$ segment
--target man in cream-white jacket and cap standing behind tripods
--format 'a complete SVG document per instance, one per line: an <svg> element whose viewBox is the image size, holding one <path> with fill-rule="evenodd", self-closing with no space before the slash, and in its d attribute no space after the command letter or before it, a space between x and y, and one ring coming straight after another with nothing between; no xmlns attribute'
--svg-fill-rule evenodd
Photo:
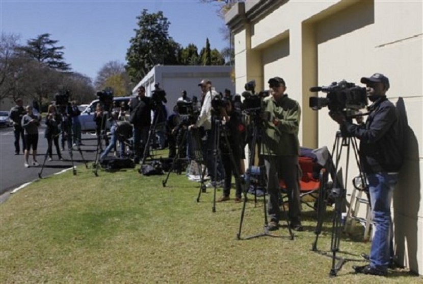
<svg viewBox="0 0 423 284"><path fill-rule="evenodd" d="M211 87L211 82L207 79L203 79L199 84L201 87L202 92L202 106L200 110L200 114L198 116L197 122L195 124L190 125L189 129L191 128L198 128L203 127L204 129L204 136L201 138L203 145L203 157L206 162L206 167L208 174L211 178L211 183L207 184L206 186L219 186L222 185L222 164L220 162L220 157L217 157L218 161L218 171L215 173L215 165L214 165L214 157L213 157L213 149L215 148L214 137L211 135L211 100L218 96L219 93L215 90L215 88Z"/></svg>

